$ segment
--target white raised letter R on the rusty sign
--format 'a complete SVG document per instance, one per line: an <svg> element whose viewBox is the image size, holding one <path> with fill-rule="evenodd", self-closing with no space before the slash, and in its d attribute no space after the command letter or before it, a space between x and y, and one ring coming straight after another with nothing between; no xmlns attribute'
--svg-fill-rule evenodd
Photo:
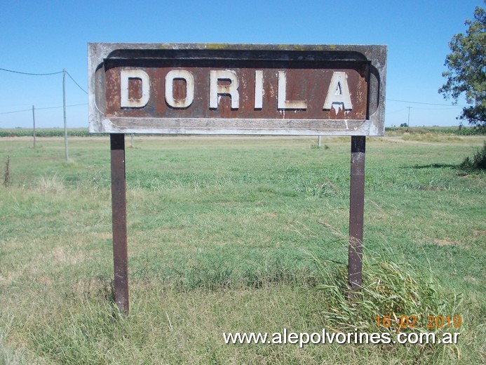
<svg viewBox="0 0 486 365"><path fill-rule="evenodd" d="M228 80L228 85L220 85L217 81ZM231 96L231 109L238 109L240 106L240 95L238 94L238 76L231 69L212 69L209 74L209 107L217 109L217 95Z"/></svg>

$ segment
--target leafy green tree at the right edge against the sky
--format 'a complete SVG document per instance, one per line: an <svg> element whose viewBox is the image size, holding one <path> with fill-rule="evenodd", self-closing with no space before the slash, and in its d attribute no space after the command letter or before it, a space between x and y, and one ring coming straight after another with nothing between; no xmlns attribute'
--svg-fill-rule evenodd
<svg viewBox="0 0 486 365"><path fill-rule="evenodd" d="M486 0L485 0L486 4ZM459 95L466 96L471 106L462 109L459 119L473 126L486 127L486 12L477 6L474 20L466 20L466 35L459 33L449 42L451 53L445 58L447 82L439 89L444 98L457 103Z"/></svg>

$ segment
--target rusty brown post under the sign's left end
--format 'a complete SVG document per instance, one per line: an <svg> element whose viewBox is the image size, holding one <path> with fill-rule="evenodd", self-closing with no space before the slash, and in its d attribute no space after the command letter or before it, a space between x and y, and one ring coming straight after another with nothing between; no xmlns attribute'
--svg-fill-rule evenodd
<svg viewBox="0 0 486 365"><path fill-rule="evenodd" d="M125 135L123 133L113 133L109 137L112 154L114 296L119 310L124 314L128 314Z"/></svg>

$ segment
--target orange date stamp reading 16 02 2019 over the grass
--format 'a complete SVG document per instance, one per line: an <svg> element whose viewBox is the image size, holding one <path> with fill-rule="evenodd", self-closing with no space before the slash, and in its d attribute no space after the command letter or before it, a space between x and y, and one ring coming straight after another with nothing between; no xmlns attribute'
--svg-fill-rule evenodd
<svg viewBox="0 0 486 365"><path fill-rule="evenodd" d="M420 321L419 317L416 315L411 316L400 316L396 318L391 318L390 316L377 316L374 317L377 321L378 327L395 327L399 328L459 328L462 324L461 316L427 316L426 321Z"/></svg>

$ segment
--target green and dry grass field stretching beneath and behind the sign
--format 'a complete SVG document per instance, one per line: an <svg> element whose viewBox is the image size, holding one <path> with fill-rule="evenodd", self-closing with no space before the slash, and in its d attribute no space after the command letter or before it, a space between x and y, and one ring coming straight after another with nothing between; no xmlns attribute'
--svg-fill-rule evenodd
<svg viewBox="0 0 486 365"><path fill-rule="evenodd" d="M350 138L127 137L128 317L112 296L109 139L70 138L66 162L62 138L0 138L0 364L484 363L486 174L458 168L484 136L394 135L367 138L353 303ZM459 342L222 336L396 333L376 326L386 315L461 316L431 330Z"/></svg>

